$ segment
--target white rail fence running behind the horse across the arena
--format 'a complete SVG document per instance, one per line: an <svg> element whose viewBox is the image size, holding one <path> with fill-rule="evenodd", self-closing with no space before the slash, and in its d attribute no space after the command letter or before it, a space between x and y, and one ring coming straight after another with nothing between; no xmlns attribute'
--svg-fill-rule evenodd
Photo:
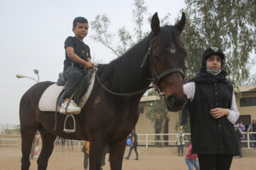
<svg viewBox="0 0 256 170"><path fill-rule="evenodd" d="M250 134L256 134L256 132L242 132L242 134L247 135L247 140L242 140L241 142L247 142L247 148L250 148L250 145L252 142L256 142L256 140L250 140ZM149 140L151 137L155 137L157 135L168 135L169 138L175 139L175 140ZM139 145L145 145L146 147L149 147L149 143L153 142L174 142L176 143L176 133L165 133L165 134L137 134L138 137L144 137L144 140L138 140ZM184 135L191 135L190 133L184 133ZM73 145L78 145L80 147L82 141L73 140ZM184 142L188 142L188 140L185 140ZM0 135L0 147L1 146L18 146L21 145L21 135Z"/></svg>

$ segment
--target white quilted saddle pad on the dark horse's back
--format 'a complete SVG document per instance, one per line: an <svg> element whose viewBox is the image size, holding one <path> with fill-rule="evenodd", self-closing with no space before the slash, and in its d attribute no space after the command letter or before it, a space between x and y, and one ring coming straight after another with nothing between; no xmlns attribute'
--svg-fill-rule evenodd
<svg viewBox="0 0 256 170"><path fill-rule="evenodd" d="M96 72L94 71L92 73L92 78L90 79L90 85L85 93L84 96L82 96L80 102L78 103L78 106L82 108L85 106L85 103L87 102L91 92L92 88L95 82L95 74ZM56 109L56 104L58 100L58 96L60 95L60 92L63 90L64 86L58 86L57 84L52 84L48 86L46 91L43 92L38 107L40 111L55 111ZM57 107L57 111L60 111L60 106Z"/></svg>

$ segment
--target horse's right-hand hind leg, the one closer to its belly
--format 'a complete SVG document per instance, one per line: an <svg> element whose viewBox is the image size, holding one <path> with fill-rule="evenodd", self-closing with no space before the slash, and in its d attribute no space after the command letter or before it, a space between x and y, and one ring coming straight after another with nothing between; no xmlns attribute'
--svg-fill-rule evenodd
<svg viewBox="0 0 256 170"><path fill-rule="evenodd" d="M50 132L41 132L42 138L42 149L38 157L38 170L45 170L48 166L48 159L50 154L53 152L54 141L56 136L52 135Z"/></svg>

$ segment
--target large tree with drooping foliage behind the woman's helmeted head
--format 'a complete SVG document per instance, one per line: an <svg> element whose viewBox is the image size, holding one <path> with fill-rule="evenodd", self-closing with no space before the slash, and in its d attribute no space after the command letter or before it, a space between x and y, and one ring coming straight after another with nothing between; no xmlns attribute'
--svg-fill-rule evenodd
<svg viewBox="0 0 256 170"><path fill-rule="evenodd" d="M255 50L256 1L185 0L186 28L183 42L188 51L187 79L201 68L201 55L209 46L225 53L225 67L238 86L248 77L247 64Z"/></svg>

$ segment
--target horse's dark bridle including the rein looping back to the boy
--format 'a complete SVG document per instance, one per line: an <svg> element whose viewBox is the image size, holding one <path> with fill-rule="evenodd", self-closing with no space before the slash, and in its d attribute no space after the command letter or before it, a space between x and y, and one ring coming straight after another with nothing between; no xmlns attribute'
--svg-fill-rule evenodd
<svg viewBox="0 0 256 170"><path fill-rule="evenodd" d="M153 50L151 48L151 45L152 43L156 40L156 35L149 41L149 48L148 48L148 51L146 52L146 55L144 57L144 59L142 60L142 64L141 64L141 68L144 67L144 65L146 64L146 60L147 58L149 57L149 62L150 62L150 66L151 66L151 75L152 75L152 78L149 78L149 80L154 84L156 85L156 91L159 92L159 95L160 96L163 96L164 94L161 92L160 90L160 86L159 86L159 82L161 81L161 79L163 77L165 77L166 75L168 74L171 74L171 73L174 73L174 72L179 72L182 74L183 76L183 79L184 79L184 72L182 69L180 68L171 68L171 69L167 69L166 71L162 72L161 74L157 74L156 73L156 68L154 67L154 62L153 62ZM105 91L107 91L108 93L110 94L114 94L116 96L134 96L134 95L137 95L137 94L141 94L142 92L148 90L148 89L151 89L153 86L148 86L146 87L145 89L142 89L140 91L136 91L136 92L133 92L133 93L128 93L128 94L119 94L119 93L116 93L114 91L110 91L110 89L107 89L106 86L104 86L104 84L102 84L102 82L100 81L100 77L98 77L97 73L95 74L95 77L97 78L97 81L99 81L100 83L100 86L102 86L103 89L105 89Z"/></svg>

